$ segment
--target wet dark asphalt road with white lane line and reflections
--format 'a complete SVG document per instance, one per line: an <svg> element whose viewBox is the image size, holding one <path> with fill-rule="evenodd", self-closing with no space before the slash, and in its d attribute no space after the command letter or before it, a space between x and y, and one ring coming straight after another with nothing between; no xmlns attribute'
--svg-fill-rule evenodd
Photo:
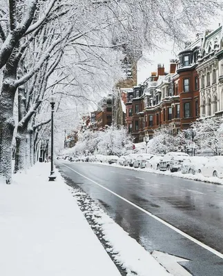
<svg viewBox="0 0 223 276"><path fill-rule="evenodd" d="M223 254L223 186L99 164L59 160L57 166L149 252L159 250L190 260L180 264L191 275L223 276L222 256L124 201Z"/></svg>

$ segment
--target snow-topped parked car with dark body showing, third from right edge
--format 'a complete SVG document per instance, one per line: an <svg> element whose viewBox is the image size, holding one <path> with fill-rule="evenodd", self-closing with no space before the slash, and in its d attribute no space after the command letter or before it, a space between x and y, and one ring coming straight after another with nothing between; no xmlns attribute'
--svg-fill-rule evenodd
<svg viewBox="0 0 223 276"><path fill-rule="evenodd" d="M182 163L188 159L189 155L184 152L168 152L162 158L159 163L159 170L170 170L171 172L177 172L181 170Z"/></svg>

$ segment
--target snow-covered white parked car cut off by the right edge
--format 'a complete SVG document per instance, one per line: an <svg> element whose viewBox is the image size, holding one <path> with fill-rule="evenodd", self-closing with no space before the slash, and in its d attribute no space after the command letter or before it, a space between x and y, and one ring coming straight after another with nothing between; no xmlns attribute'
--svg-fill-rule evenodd
<svg viewBox="0 0 223 276"><path fill-rule="evenodd" d="M200 169L204 177L223 177L223 156L213 156Z"/></svg>

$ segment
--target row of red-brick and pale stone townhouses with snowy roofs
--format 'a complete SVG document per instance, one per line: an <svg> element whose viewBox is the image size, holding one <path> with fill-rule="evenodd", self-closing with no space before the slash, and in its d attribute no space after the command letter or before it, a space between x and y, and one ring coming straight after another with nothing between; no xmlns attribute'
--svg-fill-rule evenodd
<svg viewBox="0 0 223 276"><path fill-rule="evenodd" d="M161 126L169 125L177 134L200 117L222 116L222 26L197 34L178 57L168 72L159 64L157 72L127 92L126 127L136 143L145 135L152 138Z"/></svg>

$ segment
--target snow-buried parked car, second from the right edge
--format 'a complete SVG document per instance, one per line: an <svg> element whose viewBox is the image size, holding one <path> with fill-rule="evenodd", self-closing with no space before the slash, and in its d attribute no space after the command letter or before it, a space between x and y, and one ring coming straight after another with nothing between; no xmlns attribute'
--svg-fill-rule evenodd
<svg viewBox="0 0 223 276"><path fill-rule="evenodd" d="M190 157L189 159L186 159L183 161L181 172L192 173L193 175L195 175L195 173L201 172L202 166L204 166L207 161L209 161L207 157L202 157L202 156Z"/></svg>

